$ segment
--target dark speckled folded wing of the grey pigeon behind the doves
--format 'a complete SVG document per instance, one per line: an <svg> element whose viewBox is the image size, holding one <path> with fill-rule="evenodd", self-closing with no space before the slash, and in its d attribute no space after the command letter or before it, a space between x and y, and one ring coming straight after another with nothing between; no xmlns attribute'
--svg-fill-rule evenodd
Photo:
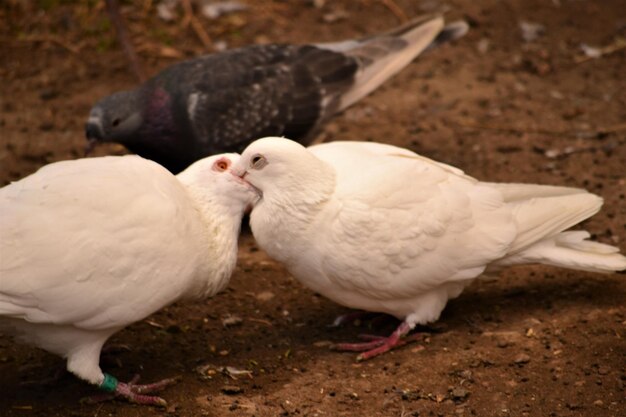
<svg viewBox="0 0 626 417"><path fill-rule="evenodd" d="M269 135L304 140L358 69L355 58L311 45L251 46L183 65L162 77L183 91L178 107L204 154L241 151Z"/></svg>

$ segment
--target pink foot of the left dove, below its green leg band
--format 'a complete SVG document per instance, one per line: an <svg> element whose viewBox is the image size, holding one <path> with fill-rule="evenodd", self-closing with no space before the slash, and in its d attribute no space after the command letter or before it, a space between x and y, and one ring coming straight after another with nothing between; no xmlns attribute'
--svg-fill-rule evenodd
<svg viewBox="0 0 626 417"><path fill-rule="evenodd" d="M175 384L179 380L179 377L167 378L153 384L138 385L137 382L139 381L139 375L135 375L130 382L126 383L117 382L117 380L111 375L105 374L105 381L102 385L100 385L100 388L109 392L106 394L88 397L85 399L85 402L93 404L115 398L124 398L128 402L135 404L165 407L167 406L167 402L163 398L146 394L161 391L169 385Z"/></svg>

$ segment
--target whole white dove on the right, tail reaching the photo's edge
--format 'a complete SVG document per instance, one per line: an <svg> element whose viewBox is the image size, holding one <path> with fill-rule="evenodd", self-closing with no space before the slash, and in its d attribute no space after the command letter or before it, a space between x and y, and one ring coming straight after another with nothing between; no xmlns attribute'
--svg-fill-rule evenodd
<svg viewBox="0 0 626 417"><path fill-rule="evenodd" d="M602 206L581 189L480 182L367 142L259 139L231 171L261 196L250 226L270 257L339 304L403 320L387 338L339 345L364 351L359 360L404 344L487 269L626 269L617 248L565 231Z"/></svg>

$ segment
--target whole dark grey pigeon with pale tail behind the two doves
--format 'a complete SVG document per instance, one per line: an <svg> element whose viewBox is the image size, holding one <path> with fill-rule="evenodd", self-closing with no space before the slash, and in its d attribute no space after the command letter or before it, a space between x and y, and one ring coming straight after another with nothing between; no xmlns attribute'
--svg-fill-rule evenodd
<svg viewBox="0 0 626 417"><path fill-rule="evenodd" d="M87 139L121 143L172 172L263 136L309 144L336 113L467 30L431 15L360 40L254 45L183 61L96 103Z"/></svg>

